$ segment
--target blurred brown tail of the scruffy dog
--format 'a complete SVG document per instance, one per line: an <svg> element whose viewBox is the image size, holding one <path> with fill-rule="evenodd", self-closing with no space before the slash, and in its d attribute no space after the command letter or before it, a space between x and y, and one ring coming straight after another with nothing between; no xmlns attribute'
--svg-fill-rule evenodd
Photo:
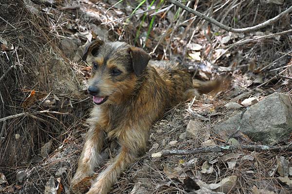
<svg viewBox="0 0 292 194"><path fill-rule="evenodd" d="M230 78L229 76L226 76L224 78L219 77L210 81L193 80L193 85L201 94L214 95L229 88Z"/></svg>

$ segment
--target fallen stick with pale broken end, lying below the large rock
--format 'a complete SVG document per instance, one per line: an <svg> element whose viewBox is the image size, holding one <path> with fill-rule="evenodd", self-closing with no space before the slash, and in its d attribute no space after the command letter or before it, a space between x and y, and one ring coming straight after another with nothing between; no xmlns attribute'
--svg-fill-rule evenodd
<svg viewBox="0 0 292 194"><path fill-rule="evenodd" d="M209 146L200 147L193 150L164 150L151 155L151 158L174 156L174 155L190 155L210 152L225 152L232 150L248 150L248 151L280 151L292 150L291 145L286 146L270 146L270 145L228 145L228 146Z"/></svg>

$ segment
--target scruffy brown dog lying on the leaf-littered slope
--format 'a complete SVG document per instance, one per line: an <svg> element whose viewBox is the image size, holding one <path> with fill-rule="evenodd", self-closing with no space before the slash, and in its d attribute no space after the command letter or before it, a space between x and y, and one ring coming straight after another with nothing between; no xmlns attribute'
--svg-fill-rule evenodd
<svg viewBox="0 0 292 194"><path fill-rule="evenodd" d="M221 81L193 85L191 75L182 67L149 61L151 57L144 50L124 42L97 40L87 47L83 60L88 53L94 56L88 92L96 106L72 185L78 190L77 183L94 174L105 140L116 140L121 147L119 154L87 192L107 194L117 176L145 152L148 131L165 109L187 100L190 94L198 95L197 90L217 90Z"/></svg>

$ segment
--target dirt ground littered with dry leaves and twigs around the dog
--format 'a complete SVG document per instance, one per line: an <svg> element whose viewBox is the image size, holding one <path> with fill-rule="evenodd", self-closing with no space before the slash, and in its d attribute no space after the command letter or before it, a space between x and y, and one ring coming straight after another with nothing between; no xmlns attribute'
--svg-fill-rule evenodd
<svg viewBox="0 0 292 194"><path fill-rule="evenodd" d="M213 127L248 106L235 110L224 105L240 105L250 97L261 100L273 92L292 94L291 33L224 48L241 39L290 30L292 14L261 30L235 34L165 1L142 2L0 2L0 118L14 115L0 122L0 193L44 193L51 176L57 194L70 193L86 119L94 106L86 92L91 68L80 56L96 38L126 41L144 48L154 60L182 63L194 79L231 77L223 92L168 110L149 132L149 150L119 177L111 194L292 193L288 150L151 157L164 150L226 146L227 138ZM281 0L185 3L233 28L256 25L292 6ZM197 136L187 132L192 122L200 126ZM232 141L261 144L240 133ZM290 143L291 138L277 145ZM114 155L106 148L97 174Z"/></svg>

